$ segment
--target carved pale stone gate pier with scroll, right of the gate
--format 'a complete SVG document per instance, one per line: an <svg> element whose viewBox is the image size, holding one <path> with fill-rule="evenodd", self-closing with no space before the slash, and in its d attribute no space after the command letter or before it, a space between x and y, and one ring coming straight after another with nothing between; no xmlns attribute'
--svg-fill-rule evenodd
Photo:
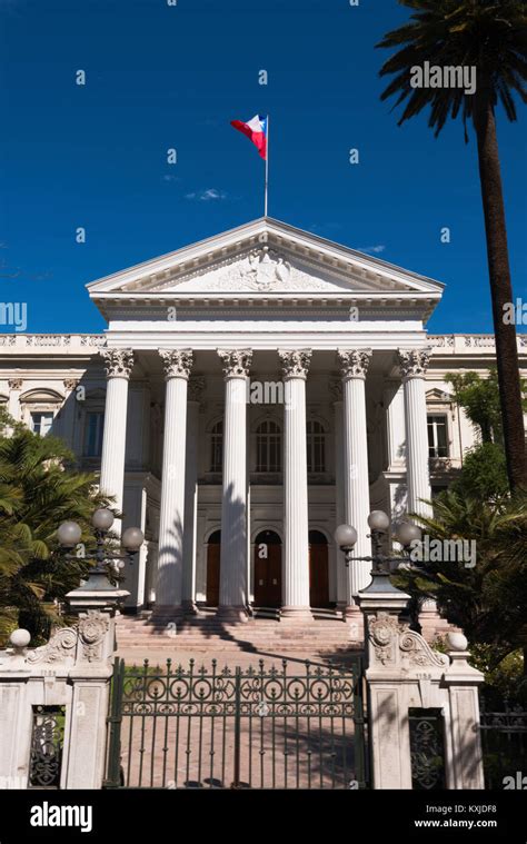
<svg viewBox="0 0 527 844"><path fill-rule="evenodd" d="M443 718L440 756L447 788L483 788L478 724L480 672L466 657L463 634L447 637L451 652L434 651L402 620L409 596L394 587L358 595L365 614L366 681L374 788L411 788L410 709Z"/></svg>

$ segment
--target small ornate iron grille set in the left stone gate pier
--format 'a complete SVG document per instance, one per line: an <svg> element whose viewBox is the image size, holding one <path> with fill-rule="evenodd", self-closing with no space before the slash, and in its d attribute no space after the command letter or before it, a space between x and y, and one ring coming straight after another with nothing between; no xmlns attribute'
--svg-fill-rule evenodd
<svg viewBox="0 0 527 844"><path fill-rule="evenodd" d="M59 788L66 706L33 706L29 788Z"/></svg>

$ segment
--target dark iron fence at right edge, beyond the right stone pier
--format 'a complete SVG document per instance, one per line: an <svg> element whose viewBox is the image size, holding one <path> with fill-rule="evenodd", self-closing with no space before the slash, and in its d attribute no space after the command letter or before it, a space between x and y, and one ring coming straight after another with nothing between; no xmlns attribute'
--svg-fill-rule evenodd
<svg viewBox="0 0 527 844"><path fill-rule="evenodd" d="M517 783L527 777L527 711L505 701L500 712L493 712L483 696L479 709L485 787L523 787Z"/></svg>

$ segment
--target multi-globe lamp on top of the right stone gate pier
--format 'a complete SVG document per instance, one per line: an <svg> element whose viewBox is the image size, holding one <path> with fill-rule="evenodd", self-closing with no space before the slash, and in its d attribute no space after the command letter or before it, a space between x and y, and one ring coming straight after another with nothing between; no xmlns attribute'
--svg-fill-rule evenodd
<svg viewBox="0 0 527 844"><path fill-rule="evenodd" d="M390 557L382 550L385 537L390 526L390 519L382 510L372 510L368 516L368 525L371 529L371 548L370 557L354 557L354 547L357 543L357 530L351 525L339 525L335 532L335 542L346 557L346 565L349 566L352 559L359 559L365 563L371 563L372 580L362 593L400 593L390 583L389 564L400 563L401 557ZM401 522L397 528L396 540L400 543L408 555L411 543L421 538L421 532L410 522ZM409 559L409 556L406 557ZM405 557L402 557L405 559Z"/></svg>

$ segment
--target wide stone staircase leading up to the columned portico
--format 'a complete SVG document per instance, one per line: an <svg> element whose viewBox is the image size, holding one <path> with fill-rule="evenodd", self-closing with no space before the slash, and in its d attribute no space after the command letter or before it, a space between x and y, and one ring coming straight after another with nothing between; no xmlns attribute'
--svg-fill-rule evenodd
<svg viewBox="0 0 527 844"><path fill-rule="evenodd" d="M117 618L118 653L168 657L178 652L216 654L345 654L360 646L351 638L351 626L336 614L316 614L309 623L252 617L226 622L210 610L180 620L121 615ZM355 638L355 637L354 637Z"/></svg>

